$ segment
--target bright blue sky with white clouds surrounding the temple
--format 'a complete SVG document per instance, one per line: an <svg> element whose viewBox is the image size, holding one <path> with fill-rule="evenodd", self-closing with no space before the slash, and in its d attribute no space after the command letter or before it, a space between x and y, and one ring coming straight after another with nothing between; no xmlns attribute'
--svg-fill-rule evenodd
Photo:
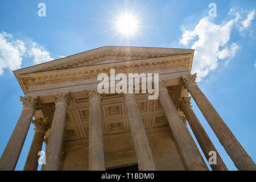
<svg viewBox="0 0 256 182"><path fill-rule="evenodd" d="M38 4L46 4L46 17ZM210 17L209 3L217 16ZM14 130L24 96L13 70L101 46L194 48L197 82L256 161L256 1L0 1L0 154ZM138 30L123 36L119 16L133 14ZM224 163L236 170L195 102L193 110ZM33 126L16 170L22 170ZM40 167L39 167L40 168Z"/></svg>

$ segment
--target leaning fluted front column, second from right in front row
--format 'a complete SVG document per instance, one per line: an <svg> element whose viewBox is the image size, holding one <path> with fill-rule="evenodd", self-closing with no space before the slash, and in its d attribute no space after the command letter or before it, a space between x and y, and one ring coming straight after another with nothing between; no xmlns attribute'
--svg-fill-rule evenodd
<svg viewBox="0 0 256 182"><path fill-rule="evenodd" d="M199 149L189 130L184 125L165 86L166 81L159 82L159 100L168 119L172 133L183 156L188 170L208 170Z"/></svg>

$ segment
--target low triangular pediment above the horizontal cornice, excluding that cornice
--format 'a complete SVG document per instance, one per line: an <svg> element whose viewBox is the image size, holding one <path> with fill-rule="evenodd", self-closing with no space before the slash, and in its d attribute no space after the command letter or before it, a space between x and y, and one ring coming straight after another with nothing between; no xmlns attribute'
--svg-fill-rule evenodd
<svg viewBox="0 0 256 182"><path fill-rule="evenodd" d="M88 65L142 60L193 53L192 49L105 46L15 71L19 74L46 72Z"/></svg>

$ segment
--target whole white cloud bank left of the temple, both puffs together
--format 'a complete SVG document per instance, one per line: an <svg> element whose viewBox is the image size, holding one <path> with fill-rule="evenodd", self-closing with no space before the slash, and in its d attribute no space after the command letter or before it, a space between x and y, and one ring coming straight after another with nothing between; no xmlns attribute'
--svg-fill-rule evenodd
<svg viewBox="0 0 256 182"><path fill-rule="evenodd" d="M33 42L31 46L22 40L15 40L13 35L7 32L0 32L0 75L5 69L20 69L22 59L26 56L32 57L34 64L53 60L49 52L38 43Z"/></svg>

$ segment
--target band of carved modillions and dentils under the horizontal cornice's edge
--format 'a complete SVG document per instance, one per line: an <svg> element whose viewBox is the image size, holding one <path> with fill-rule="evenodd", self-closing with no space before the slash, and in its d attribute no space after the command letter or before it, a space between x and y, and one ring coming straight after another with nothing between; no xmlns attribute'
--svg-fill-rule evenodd
<svg viewBox="0 0 256 182"><path fill-rule="evenodd" d="M166 58L162 58L166 59ZM111 64L108 67L104 65L104 67L98 68L99 65L94 65L96 68L84 68L81 71L72 71L67 70L63 71L63 73L47 73L44 75L40 75L39 73L33 77L25 76L21 78L24 86L39 86L39 85L47 85L47 84L55 84L59 82L67 82L67 81L80 81L80 80L88 80L90 78L97 78L100 73L109 73L110 69L115 69L115 73L144 73L161 69L171 69L171 68L181 68L181 67L189 67L189 59L188 57L175 59L175 60L157 60L147 59L147 62L143 63L129 63L116 65ZM68 72L69 71L69 72Z"/></svg>

